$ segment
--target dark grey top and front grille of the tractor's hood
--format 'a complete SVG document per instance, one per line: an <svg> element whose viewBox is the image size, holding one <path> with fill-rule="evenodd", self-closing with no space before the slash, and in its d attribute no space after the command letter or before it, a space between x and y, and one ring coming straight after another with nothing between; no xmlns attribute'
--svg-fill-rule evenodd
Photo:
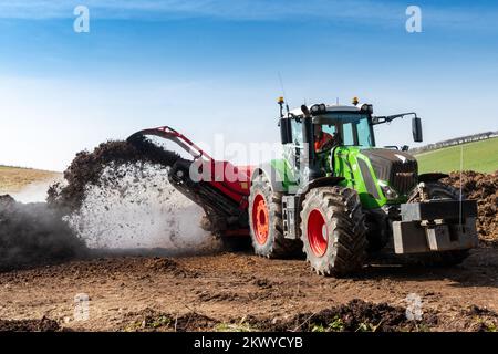
<svg viewBox="0 0 498 354"><path fill-rule="evenodd" d="M385 180L397 192L406 195L418 180L418 165L415 157L405 152L387 148L363 149L372 164L377 179Z"/></svg>

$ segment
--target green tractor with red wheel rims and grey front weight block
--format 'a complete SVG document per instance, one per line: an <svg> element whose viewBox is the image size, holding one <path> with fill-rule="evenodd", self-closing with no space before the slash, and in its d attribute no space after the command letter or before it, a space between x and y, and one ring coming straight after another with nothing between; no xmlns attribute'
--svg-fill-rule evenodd
<svg viewBox="0 0 498 354"><path fill-rule="evenodd" d="M376 254L425 264L457 264L477 246L477 204L418 174L408 147L378 148L374 127L415 113L374 116L371 104L303 105L284 113L283 157L252 169L248 217L257 254L303 251L323 275L359 271Z"/></svg>

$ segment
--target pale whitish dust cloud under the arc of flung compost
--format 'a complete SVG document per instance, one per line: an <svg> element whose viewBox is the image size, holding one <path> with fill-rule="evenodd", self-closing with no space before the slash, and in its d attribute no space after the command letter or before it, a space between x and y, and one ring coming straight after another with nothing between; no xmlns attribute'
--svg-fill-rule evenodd
<svg viewBox="0 0 498 354"><path fill-rule="evenodd" d="M215 238L199 227L204 210L168 181L165 166L110 164L98 184L86 186L79 210L66 220L93 249L208 251Z"/></svg>

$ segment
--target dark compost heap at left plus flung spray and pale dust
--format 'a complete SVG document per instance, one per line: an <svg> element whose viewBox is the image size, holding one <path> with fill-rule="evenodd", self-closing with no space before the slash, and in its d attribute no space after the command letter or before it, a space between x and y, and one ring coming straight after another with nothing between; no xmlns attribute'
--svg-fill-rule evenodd
<svg viewBox="0 0 498 354"><path fill-rule="evenodd" d="M180 195L165 166L177 154L138 138L81 152L46 204L0 199L0 269L15 269L89 254L96 248L216 248L198 227L200 207ZM208 247L209 246L209 247ZM209 249L209 251L211 250Z"/></svg>

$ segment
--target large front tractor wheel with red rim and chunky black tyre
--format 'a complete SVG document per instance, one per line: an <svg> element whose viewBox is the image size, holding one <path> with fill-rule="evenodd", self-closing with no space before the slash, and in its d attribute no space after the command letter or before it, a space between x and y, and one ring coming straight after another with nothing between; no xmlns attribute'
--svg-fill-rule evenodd
<svg viewBox="0 0 498 354"><path fill-rule="evenodd" d="M301 239L317 273L360 270L366 258L366 228L356 191L338 186L312 189L301 211Z"/></svg>

